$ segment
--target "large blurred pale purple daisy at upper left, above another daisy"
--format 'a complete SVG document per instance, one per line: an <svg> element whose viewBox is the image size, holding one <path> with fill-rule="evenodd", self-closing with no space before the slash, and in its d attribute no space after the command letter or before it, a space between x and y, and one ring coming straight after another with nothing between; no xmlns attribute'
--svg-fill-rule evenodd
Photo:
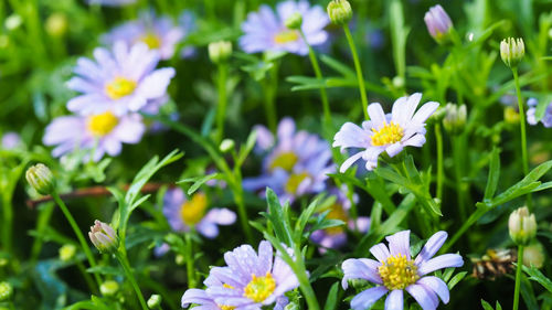
<svg viewBox="0 0 552 310"><path fill-rule="evenodd" d="M144 43L130 49L116 42L113 52L97 47L95 62L81 57L74 73L78 76L67 82L67 87L83 93L67 103L71 111L81 115L110 110L116 115L138 111L150 100L167 94L174 76L174 68L155 70L159 52L149 50Z"/></svg>

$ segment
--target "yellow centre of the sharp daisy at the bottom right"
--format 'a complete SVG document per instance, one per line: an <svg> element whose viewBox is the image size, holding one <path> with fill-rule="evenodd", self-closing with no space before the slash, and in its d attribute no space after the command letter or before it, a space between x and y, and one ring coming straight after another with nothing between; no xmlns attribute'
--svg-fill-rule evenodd
<svg viewBox="0 0 552 310"><path fill-rule="evenodd" d="M390 256L385 264L378 268L383 285L390 289L404 289L420 279L414 260L406 259L405 255Z"/></svg>

